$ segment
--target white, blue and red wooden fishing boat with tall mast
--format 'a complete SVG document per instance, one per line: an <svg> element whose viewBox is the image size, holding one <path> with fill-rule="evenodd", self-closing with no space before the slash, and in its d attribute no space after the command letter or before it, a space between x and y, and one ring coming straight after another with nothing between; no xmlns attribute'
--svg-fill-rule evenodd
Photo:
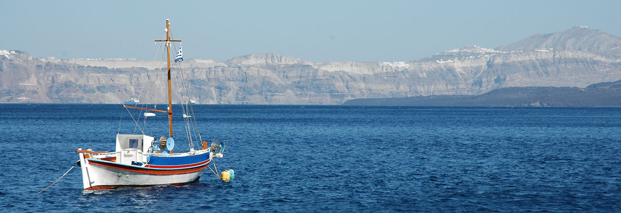
<svg viewBox="0 0 621 213"><path fill-rule="evenodd" d="M185 107L181 105L183 120L186 123L185 129L189 150L187 152L176 152L177 150L175 150L170 48L173 42L180 43L181 40L171 39L170 22L168 19L166 19L165 32L164 39L155 41L163 42L162 44L165 46L164 54L166 54L168 61L168 105L166 110L156 109L156 104L136 106L138 102L135 102L132 106L122 105L122 107L124 107L123 110L128 112L130 110L140 111L140 113L134 113L134 115L138 115L138 119L143 119L145 122L157 113L168 114L168 129L163 128L165 130L162 131L163 133L168 131L168 136L154 137L145 134L144 126L141 127L136 122L136 118L132 116L136 126L130 131L135 133L135 129L139 129L140 134L120 134L119 130L119 134L116 135L116 149L114 152L94 151L92 149L76 150L79 155L79 166L82 170L84 189L185 185L199 180L201 173L206 168L209 168L212 172L215 169L214 174L219 177L217 168L215 168L214 158L222 157L224 141L222 141L222 144L217 141L211 144L202 141L200 131L196 130L196 126L191 126L197 123L196 118L193 116L192 105L185 105ZM179 48L175 61L183 61L181 48ZM160 70L163 70L163 68ZM186 100L186 103L189 102L189 97ZM179 113L175 115L178 118L182 118ZM156 120L153 119L153 121ZM200 146L201 148L194 149L194 143L197 144L196 147ZM211 168L209 163L214 166L214 169Z"/></svg>

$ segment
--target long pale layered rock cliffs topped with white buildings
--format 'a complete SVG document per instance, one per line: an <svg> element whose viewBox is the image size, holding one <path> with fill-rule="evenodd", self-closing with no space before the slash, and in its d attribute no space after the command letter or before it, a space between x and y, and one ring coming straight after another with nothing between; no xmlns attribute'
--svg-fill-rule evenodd
<svg viewBox="0 0 621 213"><path fill-rule="evenodd" d="M175 63L197 103L340 104L353 98L478 95L502 87L586 87L621 79L621 38L589 28L533 37L496 50L478 46L406 62L314 63L274 53ZM155 66L157 64L158 66ZM154 61L37 59L0 52L0 102L147 102L164 94ZM164 65L165 66L165 65ZM179 69L175 69L179 70ZM173 95L180 102L179 95ZM156 102L165 102L160 95Z"/></svg>

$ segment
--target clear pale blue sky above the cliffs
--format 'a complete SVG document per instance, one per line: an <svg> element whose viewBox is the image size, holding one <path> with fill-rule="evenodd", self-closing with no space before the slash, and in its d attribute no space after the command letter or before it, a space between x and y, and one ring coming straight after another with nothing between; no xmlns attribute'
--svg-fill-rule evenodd
<svg viewBox="0 0 621 213"><path fill-rule="evenodd" d="M0 1L0 50L153 60L170 19L184 58L277 53L410 61L586 25L621 37L621 1ZM171 53L174 54L174 53Z"/></svg>

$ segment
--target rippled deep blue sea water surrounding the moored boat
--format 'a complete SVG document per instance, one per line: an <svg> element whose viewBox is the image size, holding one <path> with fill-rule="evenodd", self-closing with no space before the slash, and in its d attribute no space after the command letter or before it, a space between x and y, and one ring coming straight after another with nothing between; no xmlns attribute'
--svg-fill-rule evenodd
<svg viewBox="0 0 621 213"><path fill-rule="evenodd" d="M194 111L203 139L226 139L216 165L235 180L206 170L186 186L83 191L76 167L37 194L78 160L77 148L114 150L133 121L120 105L0 104L0 211L621 211L621 108Z"/></svg>

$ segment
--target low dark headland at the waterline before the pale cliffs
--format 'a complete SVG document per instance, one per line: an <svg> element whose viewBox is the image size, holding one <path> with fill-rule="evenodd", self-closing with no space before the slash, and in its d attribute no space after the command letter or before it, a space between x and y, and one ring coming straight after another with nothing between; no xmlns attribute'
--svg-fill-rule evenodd
<svg viewBox="0 0 621 213"><path fill-rule="evenodd" d="M464 107L621 107L621 80L579 87L508 87L481 95L360 98L343 105Z"/></svg>

